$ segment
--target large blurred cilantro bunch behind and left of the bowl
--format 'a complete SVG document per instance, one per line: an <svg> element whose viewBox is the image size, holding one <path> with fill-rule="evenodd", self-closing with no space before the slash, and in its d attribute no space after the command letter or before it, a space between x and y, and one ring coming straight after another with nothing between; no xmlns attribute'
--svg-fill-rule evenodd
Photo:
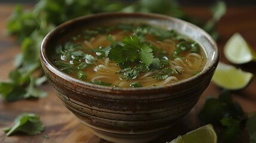
<svg viewBox="0 0 256 143"><path fill-rule="evenodd" d="M92 13L137 11L172 15L206 27L206 32L215 33L214 25L226 10L224 2L218 2L212 10L214 17L208 21L209 26L204 26L202 23L195 23L195 18L188 17L174 0L139 0L133 4L107 0L41 0L30 10L23 10L21 5L17 5L8 20L7 30L10 35L17 36L21 43L21 53L16 57L16 69L10 72L10 80L0 82L0 94L6 101L45 97L46 93L38 89L46 80L40 71L39 48L44 36L64 21ZM40 94L32 91L40 91Z"/></svg>

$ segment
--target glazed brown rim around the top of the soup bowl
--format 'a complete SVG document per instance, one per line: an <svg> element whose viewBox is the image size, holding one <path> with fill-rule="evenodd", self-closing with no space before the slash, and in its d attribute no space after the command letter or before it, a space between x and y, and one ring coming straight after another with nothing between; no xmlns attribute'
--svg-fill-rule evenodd
<svg viewBox="0 0 256 143"><path fill-rule="evenodd" d="M71 77L65 73L63 73L62 71L58 70L57 67L55 67L52 63L51 60L47 57L47 55L45 55L45 45L47 45L47 42L50 38L52 38L56 33L60 32L61 30L63 30L66 26L70 26L69 24L71 23L77 23L79 21L85 20L85 19L90 19L90 18L100 18L100 17L121 17L121 16L129 16L129 17L141 17L141 18L155 18L155 19L160 19L160 20L171 20L171 21L175 21L177 23L185 23L187 24L187 26L193 27L193 29L199 30L199 32L201 33L201 35L205 36L205 38L208 39L208 41L211 43L211 46L214 48L214 55L212 56L212 61L210 63L210 65L208 67L204 67L203 70L196 74L196 76L192 76L189 77L188 79L184 79L175 83L171 83L170 85L163 85L163 86L152 86L152 87L143 87L143 88L113 88L113 87L109 87L109 86L102 86L102 85L94 85L92 83L87 83L78 79L75 79L74 77ZM186 84L189 81L193 81L198 79L199 77L211 72L212 70L215 69L215 67L217 67L218 64L218 60L220 58L220 52L218 50L217 44L215 43L214 39L211 38L211 36L206 33L204 30L202 30L201 28L199 28L198 26L195 26L194 24L188 23L187 21L183 21L180 20L178 18L174 18L168 15L162 15L162 14L146 14L146 13L99 13L99 14L90 14L90 15L85 15L82 17L78 17L78 18L74 18L72 20L66 21L62 24L60 24L59 26L55 27L53 30L51 30L51 32L49 32L47 34L47 36L45 36L44 40L42 41L41 44L41 51L40 51L40 58L41 58L41 62L45 64L46 67L48 67L49 70L51 70L53 73L57 74L58 76L60 76L61 78L72 82L72 83L76 83L80 86L83 86L87 89L97 89L98 91L113 91L113 92L120 92L120 91L152 91L155 89L158 89L158 91L161 91L162 89L166 89L166 88L173 88L174 86L180 86L183 84Z"/></svg>

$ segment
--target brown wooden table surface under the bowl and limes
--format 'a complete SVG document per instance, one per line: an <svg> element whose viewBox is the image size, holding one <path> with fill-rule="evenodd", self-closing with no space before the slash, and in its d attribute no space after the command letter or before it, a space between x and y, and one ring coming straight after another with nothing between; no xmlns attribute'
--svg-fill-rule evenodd
<svg viewBox="0 0 256 143"><path fill-rule="evenodd" d="M0 5L0 80L8 79L8 73L14 69L14 57L20 52L20 44L15 41L15 38L5 35L5 23L12 13L13 8L14 5ZM211 15L209 9L205 7L186 7L185 10L189 15L201 19L208 19ZM256 51L255 14L256 5L227 8L226 15L217 24L217 30L221 35L217 43L221 51L227 39L235 32L239 32ZM229 63L224 55L221 56L221 61ZM240 67L243 70L256 74L256 63L249 63ZM41 88L48 92L48 97L39 100L21 100L16 102L5 102L0 98L0 142L107 142L92 134L87 126L79 123L64 107L61 101L58 100L50 85L45 84ZM203 92L195 108L167 133L152 142L171 141L178 135L202 126L197 114L200 108L202 108L206 96L217 96L220 90L214 83L211 83L208 89ZM246 113L256 111L256 79L254 78L251 84L242 91L232 92L232 96L235 101L242 105ZM10 137L5 136L2 128L13 125L15 117L23 112L40 114L41 121L46 126L44 132L35 136L24 135L23 133ZM49 138L44 138L44 135L48 135ZM246 139L244 141L248 142Z"/></svg>

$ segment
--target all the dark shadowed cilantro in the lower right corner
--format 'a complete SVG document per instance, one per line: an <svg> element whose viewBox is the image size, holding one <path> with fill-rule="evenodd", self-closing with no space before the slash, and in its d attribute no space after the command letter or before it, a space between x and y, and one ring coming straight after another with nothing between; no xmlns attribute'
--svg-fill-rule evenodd
<svg viewBox="0 0 256 143"><path fill-rule="evenodd" d="M250 143L256 141L256 114L248 116L238 102L232 100L230 91L224 89L218 98L209 97L199 113L199 119L205 123L221 126L219 142L241 142L240 132L246 125Z"/></svg>

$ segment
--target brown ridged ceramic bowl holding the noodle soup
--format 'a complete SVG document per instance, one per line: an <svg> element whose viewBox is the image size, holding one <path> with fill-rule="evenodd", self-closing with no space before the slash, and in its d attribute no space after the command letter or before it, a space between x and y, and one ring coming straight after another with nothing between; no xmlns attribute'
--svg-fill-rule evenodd
<svg viewBox="0 0 256 143"><path fill-rule="evenodd" d="M168 86L110 88L82 82L58 70L51 60L57 39L79 27L97 24L147 23L192 38L203 46L206 65L196 76ZM199 27L159 14L105 13L79 17L57 26L41 46L41 62L58 98L80 122L112 142L147 142L174 125L198 102L219 61L214 40Z"/></svg>

